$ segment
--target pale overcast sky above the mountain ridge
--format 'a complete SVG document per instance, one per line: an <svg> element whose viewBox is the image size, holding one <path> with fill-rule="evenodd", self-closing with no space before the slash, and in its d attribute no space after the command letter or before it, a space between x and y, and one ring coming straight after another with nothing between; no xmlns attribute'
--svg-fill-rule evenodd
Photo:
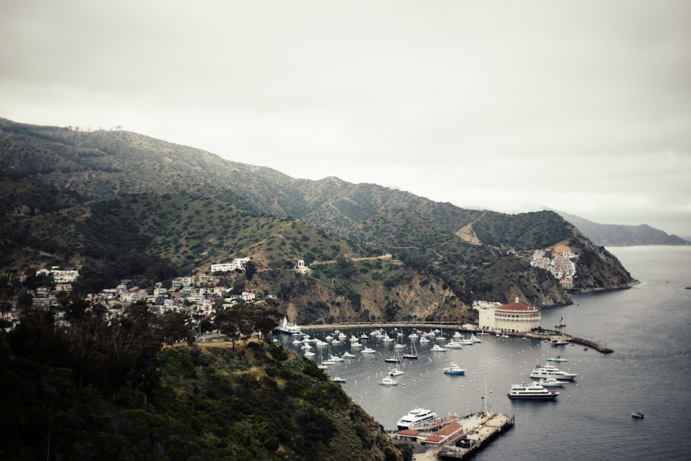
<svg viewBox="0 0 691 461"><path fill-rule="evenodd" d="M691 236L685 0L3 0L0 117Z"/></svg>

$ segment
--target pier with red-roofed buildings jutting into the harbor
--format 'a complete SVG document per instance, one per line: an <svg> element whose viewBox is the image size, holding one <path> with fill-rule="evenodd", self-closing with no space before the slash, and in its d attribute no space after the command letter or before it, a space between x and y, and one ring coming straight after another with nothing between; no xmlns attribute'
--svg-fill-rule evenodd
<svg viewBox="0 0 691 461"><path fill-rule="evenodd" d="M416 460L463 460L513 427L513 415L473 413L451 415L425 426L392 433L392 438L426 446Z"/></svg>

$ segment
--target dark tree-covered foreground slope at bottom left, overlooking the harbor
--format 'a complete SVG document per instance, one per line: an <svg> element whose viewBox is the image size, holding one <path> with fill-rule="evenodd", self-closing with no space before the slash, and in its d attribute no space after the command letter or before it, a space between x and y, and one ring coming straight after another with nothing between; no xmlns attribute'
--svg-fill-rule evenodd
<svg viewBox="0 0 691 461"><path fill-rule="evenodd" d="M0 330L3 460L402 460L314 361L257 340L161 350L145 306ZM410 459L409 457L407 459Z"/></svg>

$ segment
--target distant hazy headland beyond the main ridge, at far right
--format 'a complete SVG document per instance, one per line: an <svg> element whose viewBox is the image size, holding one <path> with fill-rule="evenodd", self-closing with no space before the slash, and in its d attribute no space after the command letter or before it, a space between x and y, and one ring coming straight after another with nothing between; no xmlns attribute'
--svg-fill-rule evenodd
<svg viewBox="0 0 691 461"><path fill-rule="evenodd" d="M647 224L637 226L623 224L599 224L574 214L556 211L583 232L595 245L626 247L633 245L691 245L676 235L669 235Z"/></svg>

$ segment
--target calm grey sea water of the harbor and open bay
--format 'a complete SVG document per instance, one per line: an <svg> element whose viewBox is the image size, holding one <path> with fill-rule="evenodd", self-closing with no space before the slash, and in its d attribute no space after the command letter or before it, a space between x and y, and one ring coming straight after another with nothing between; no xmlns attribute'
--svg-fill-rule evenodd
<svg viewBox="0 0 691 461"><path fill-rule="evenodd" d="M393 355L392 343L363 341L377 350L363 355L343 341L333 352L352 350L357 358L330 366L328 374L347 379L343 390L385 429L394 429L416 406L446 415L480 411L485 403L496 413L515 415L514 428L475 460L691 459L691 290L685 289L691 286L691 247L608 250L641 283L545 309L542 326L552 328L563 317L567 333L606 343L612 354L494 336L479 336L482 344L447 352L432 352L433 343L418 342L419 359L401 359L399 385L381 386L377 383L394 366L384 361ZM349 337L352 332L347 331ZM319 361L319 348L315 352ZM555 364L558 368L578 373L573 383L558 388L556 401L506 396L511 384L528 382L531 368L555 355L567 359ZM466 369L465 376L442 373L452 361ZM632 418L632 411L642 411L645 418Z"/></svg>

